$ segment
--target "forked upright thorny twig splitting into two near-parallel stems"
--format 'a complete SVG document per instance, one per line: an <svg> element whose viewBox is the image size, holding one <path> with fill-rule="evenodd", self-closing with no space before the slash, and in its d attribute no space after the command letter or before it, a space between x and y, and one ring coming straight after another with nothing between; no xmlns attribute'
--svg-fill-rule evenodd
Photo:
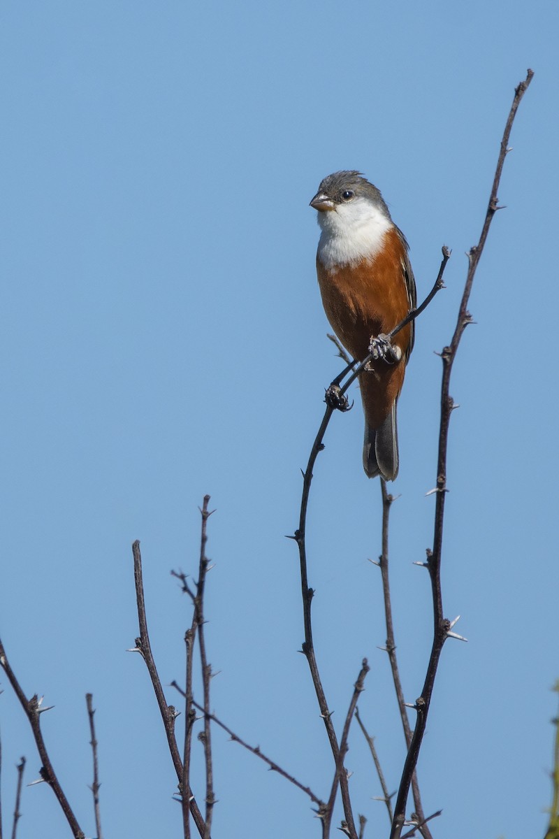
<svg viewBox="0 0 559 839"><path fill-rule="evenodd" d="M210 515L214 511L208 510L208 504L210 503L210 496L204 495L204 503L202 505L202 509L200 513L202 515L202 533L200 537L200 558L199 558L199 569L198 569L198 582L196 583L196 591L192 591L190 586L187 582L187 576L183 574L182 571L171 571L173 576L179 578L179 580L183 584L183 591L185 591L192 600L194 606L194 615L192 618L192 625L190 627L189 633L187 633L184 637L185 643L187 645L187 673L186 673L186 683L187 683L187 690L185 695L186 700L186 720L187 720L187 727L185 731L185 738L184 738L184 783L188 786L189 785L189 767L190 767L190 746L192 742L192 723L194 719L192 718L191 714L191 702L192 702L192 653L194 649L194 640L196 638L196 633L198 633L198 644L200 650L200 663L202 665L202 685L204 690L204 732L199 734L199 740L201 740L202 744L204 745L204 760L205 760L205 769L206 769L206 795L205 795L205 802L206 802L206 811L205 811L205 831L204 831L204 839L209 839L210 832L211 832L211 821L212 815L215 805L215 793L214 793L214 770L213 770L213 762L212 762L212 753L211 753L211 728L210 728L210 717L208 713L210 711L210 680L211 680L211 665L208 664L208 659L206 656L206 649L205 649L205 638L204 638L204 586L205 586L205 578L206 574L208 573L210 561L208 557L205 555L205 546L208 541L208 532L207 532L207 522L210 518Z"/></svg>

